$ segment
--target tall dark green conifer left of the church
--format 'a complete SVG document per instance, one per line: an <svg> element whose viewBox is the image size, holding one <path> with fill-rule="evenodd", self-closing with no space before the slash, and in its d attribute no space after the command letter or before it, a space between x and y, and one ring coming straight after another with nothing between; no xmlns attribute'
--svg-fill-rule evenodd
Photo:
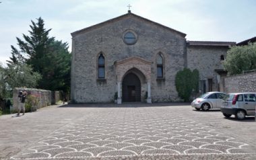
<svg viewBox="0 0 256 160"><path fill-rule="evenodd" d="M44 20L39 17L38 22L30 25L30 35L23 34L24 40L17 38L20 50L11 46L9 64L26 63L33 71L42 75L38 81L38 88L49 90L69 91L71 54L67 43L49 37L50 30L44 28Z"/></svg>

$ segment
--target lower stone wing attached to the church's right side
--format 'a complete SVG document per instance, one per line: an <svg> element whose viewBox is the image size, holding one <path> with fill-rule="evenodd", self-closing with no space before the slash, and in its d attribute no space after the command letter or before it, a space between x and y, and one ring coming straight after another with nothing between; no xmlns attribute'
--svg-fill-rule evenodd
<svg viewBox="0 0 256 160"><path fill-rule="evenodd" d="M234 42L188 41L187 67L199 71L199 91L224 91L226 71L222 61L226 58L228 46Z"/></svg>

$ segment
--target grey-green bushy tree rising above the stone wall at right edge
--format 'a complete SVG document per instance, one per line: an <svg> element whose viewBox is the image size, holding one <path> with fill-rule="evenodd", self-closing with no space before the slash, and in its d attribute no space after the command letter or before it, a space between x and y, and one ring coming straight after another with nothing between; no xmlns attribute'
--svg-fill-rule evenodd
<svg viewBox="0 0 256 160"><path fill-rule="evenodd" d="M256 69L256 43L230 47L223 65L224 69L228 71L228 75Z"/></svg>

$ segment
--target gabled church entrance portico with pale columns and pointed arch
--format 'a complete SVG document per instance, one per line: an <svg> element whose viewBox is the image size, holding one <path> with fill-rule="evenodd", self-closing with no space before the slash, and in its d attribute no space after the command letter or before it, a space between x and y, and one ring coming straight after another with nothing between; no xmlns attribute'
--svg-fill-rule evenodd
<svg viewBox="0 0 256 160"><path fill-rule="evenodd" d="M152 103L151 61L133 56L115 62L117 104L122 102Z"/></svg>

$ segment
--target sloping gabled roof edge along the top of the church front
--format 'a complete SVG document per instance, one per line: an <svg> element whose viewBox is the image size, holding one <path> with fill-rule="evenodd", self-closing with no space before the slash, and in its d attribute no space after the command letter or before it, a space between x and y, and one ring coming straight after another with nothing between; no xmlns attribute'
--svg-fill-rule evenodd
<svg viewBox="0 0 256 160"><path fill-rule="evenodd" d="M166 30L170 30L171 32L176 32L177 34L183 36L184 38L185 38L185 36L187 35L187 34L184 34L183 32L179 32L179 31L174 30L174 29L172 29L172 28L168 28L168 27L166 27L166 26L164 26L164 25L162 25L162 24L158 24L158 23L156 23L156 22L151 21L150 19L146 19L146 18L144 18L144 17L141 17L141 16L139 16L139 15L135 15L135 14L131 13L131 11L128 11L128 13L126 13L126 14L124 14L124 15L121 15L121 16L119 16L119 17L115 17L115 18L113 18L113 19L109 19L109 20L107 20L107 21L105 21L105 22L101 22L100 24L96 24L96 25L94 25L94 26L90 26L90 27L84 28L84 29L82 29L82 30L77 30L77 31L71 33L71 36L76 36L77 34L81 34L81 33L84 33L84 32L88 32L88 31L90 31L90 30L94 30L94 29L96 29L96 28L100 28L100 27L102 27L102 26L104 26L104 25L106 25L106 24L110 24L110 23L113 23L113 22L117 22L117 21L119 21L119 20L121 20L121 19L124 19L125 17L137 17L138 19L141 19L141 20L144 21L144 22L148 22L148 23L150 23L150 24L154 24L154 25L156 25L156 26L160 26L160 27L162 27L162 28L165 28Z"/></svg>

